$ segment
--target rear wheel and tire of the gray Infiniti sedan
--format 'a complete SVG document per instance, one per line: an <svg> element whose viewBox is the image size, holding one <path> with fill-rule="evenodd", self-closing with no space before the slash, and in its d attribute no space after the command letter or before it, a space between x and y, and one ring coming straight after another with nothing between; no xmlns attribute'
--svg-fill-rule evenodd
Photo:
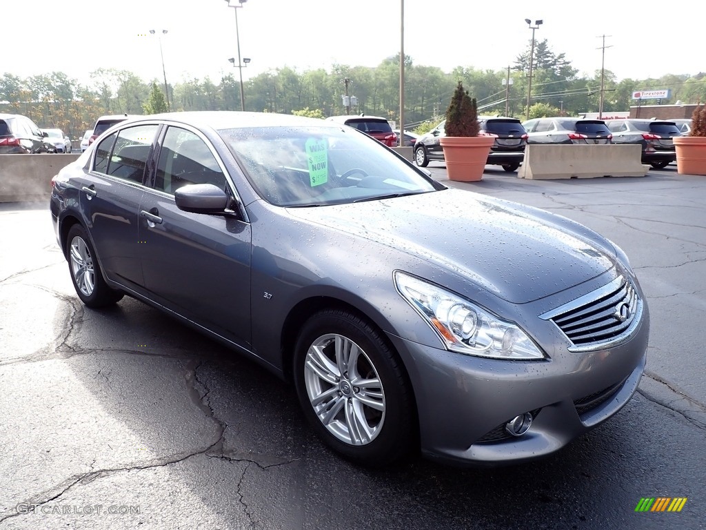
<svg viewBox="0 0 706 530"><path fill-rule="evenodd" d="M95 250L81 225L73 225L68 230L66 260L73 288L88 307L105 307L123 298L124 293L105 283Z"/></svg>

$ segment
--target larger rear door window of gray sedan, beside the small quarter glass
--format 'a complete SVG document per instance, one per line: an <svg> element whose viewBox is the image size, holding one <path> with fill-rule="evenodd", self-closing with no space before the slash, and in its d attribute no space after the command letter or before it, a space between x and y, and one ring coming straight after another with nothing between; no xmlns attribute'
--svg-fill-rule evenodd
<svg viewBox="0 0 706 530"><path fill-rule="evenodd" d="M141 184L156 133L157 125L138 125L119 131L106 174Z"/></svg>

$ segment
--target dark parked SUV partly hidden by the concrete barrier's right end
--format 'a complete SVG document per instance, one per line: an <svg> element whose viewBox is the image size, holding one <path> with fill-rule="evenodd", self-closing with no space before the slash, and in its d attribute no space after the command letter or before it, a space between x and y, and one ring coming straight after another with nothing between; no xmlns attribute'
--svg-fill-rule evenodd
<svg viewBox="0 0 706 530"><path fill-rule="evenodd" d="M639 143L642 163L661 170L676 160L674 136L681 136L675 122L659 119L611 119L606 122L613 133L613 143Z"/></svg>

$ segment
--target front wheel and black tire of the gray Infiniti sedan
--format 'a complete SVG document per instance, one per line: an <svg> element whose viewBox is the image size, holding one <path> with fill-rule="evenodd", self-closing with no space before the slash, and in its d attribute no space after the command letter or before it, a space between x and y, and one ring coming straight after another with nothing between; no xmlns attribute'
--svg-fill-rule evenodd
<svg viewBox="0 0 706 530"><path fill-rule="evenodd" d="M402 361L364 319L345 310L309 318L297 338L294 383L313 430L347 459L388 466L413 449L414 399Z"/></svg>

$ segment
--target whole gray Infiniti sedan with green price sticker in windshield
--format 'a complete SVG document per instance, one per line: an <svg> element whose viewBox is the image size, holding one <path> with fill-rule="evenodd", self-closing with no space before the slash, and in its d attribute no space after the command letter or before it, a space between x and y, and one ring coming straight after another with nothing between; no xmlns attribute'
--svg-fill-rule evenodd
<svg viewBox="0 0 706 530"><path fill-rule="evenodd" d="M54 177L50 206L85 305L128 295L247 355L359 464L551 454L623 407L645 366L621 249L447 189L343 124L128 119Z"/></svg>

